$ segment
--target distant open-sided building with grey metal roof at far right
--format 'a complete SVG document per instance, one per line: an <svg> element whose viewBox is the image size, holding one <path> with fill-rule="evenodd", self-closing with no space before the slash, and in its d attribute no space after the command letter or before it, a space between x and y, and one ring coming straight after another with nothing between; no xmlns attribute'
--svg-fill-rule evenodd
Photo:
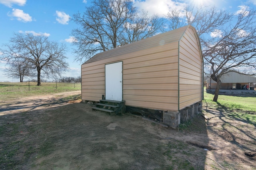
<svg viewBox="0 0 256 170"><path fill-rule="evenodd" d="M220 89L250 89L254 90L253 83L256 83L255 76L249 76L245 74L239 74L238 72L228 72L224 74L221 78ZM206 80L207 89L215 89L217 83L214 80Z"/></svg>

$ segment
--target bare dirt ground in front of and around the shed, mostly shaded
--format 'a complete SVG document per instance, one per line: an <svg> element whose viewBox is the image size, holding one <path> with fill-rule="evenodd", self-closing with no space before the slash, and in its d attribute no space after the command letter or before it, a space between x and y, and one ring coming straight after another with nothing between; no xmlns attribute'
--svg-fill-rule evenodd
<svg viewBox="0 0 256 170"><path fill-rule="evenodd" d="M208 108L209 120L197 115L176 130L92 111L79 97L2 101L0 169L256 169L256 125L247 120Z"/></svg>

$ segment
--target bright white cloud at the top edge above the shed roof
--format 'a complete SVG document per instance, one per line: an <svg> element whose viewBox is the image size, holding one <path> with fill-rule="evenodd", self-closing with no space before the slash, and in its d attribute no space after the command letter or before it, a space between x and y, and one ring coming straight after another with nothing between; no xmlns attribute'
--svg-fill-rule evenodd
<svg viewBox="0 0 256 170"><path fill-rule="evenodd" d="M183 10L186 3L173 1L173 0L133 0L134 6L138 8L139 11L142 9L148 11L149 15L158 14L163 17L167 15L169 11L176 8L178 10Z"/></svg>

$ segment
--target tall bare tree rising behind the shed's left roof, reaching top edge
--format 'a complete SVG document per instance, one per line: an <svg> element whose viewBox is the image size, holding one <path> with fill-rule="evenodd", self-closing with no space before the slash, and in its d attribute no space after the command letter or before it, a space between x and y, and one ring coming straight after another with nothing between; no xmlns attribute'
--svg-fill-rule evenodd
<svg viewBox="0 0 256 170"><path fill-rule="evenodd" d="M138 16L132 0L93 0L83 14L73 15L80 25L71 32L76 61L86 61L96 53L116 48L157 33L163 20L148 17L146 12Z"/></svg>

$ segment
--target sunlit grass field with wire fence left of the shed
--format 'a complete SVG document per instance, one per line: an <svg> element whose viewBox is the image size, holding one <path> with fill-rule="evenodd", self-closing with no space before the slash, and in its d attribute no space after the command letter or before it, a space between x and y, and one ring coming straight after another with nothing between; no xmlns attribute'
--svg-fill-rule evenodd
<svg viewBox="0 0 256 170"><path fill-rule="evenodd" d="M42 83L42 86L36 84L37 82L0 82L0 101L81 90L81 83Z"/></svg>

